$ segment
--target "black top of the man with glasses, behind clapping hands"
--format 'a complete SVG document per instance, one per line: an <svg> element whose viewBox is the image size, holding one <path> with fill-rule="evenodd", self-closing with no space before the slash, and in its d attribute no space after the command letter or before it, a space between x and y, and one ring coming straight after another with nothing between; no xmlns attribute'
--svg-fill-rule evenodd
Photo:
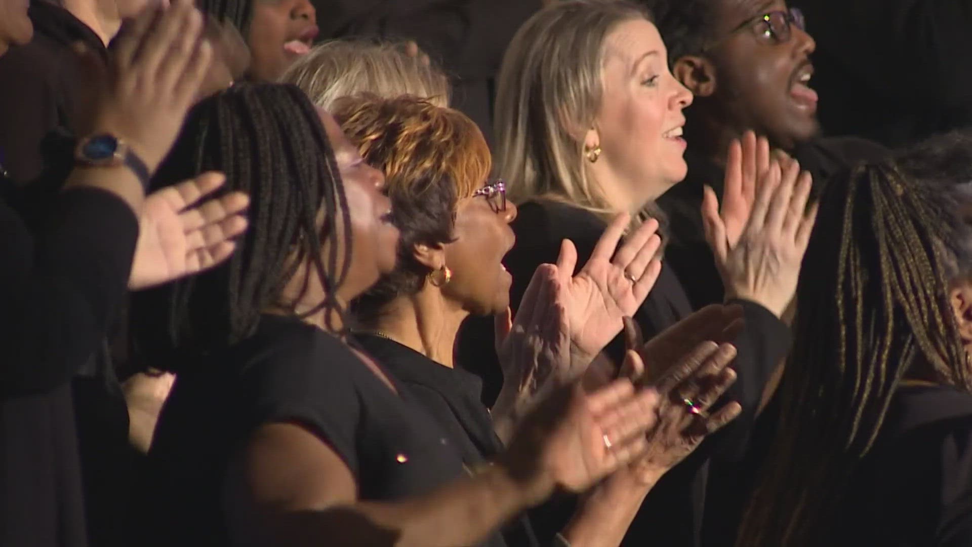
<svg viewBox="0 0 972 547"><path fill-rule="evenodd" d="M803 169L814 175L815 195L833 176L856 164L877 161L887 154L881 145L859 138L825 138L801 145L793 152ZM712 249L702 224L702 197L706 185L722 196L724 171L709 158L685 153L688 175L659 198L667 218L665 262L682 280L695 309L722 302L722 278L715 268Z"/></svg>

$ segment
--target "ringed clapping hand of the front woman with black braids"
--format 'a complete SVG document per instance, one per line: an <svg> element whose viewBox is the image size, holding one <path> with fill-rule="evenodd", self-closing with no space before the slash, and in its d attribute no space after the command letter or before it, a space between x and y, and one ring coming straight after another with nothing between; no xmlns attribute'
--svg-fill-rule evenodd
<svg viewBox="0 0 972 547"><path fill-rule="evenodd" d="M590 394L579 383L554 389L518 427L503 463L536 485L584 492L648 450L659 396L618 380Z"/></svg>

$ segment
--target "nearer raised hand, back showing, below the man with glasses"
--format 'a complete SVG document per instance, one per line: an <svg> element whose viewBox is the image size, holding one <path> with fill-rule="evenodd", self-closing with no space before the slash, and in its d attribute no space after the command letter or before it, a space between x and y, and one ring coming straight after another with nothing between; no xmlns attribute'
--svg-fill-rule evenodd
<svg viewBox="0 0 972 547"><path fill-rule="evenodd" d="M727 296L751 300L782 316L796 292L816 220L816 203L807 208L812 183L810 173L801 173L797 162L783 170L777 159L772 160L759 177L756 201L735 244L729 226L712 206L712 189L706 189L706 238Z"/></svg>

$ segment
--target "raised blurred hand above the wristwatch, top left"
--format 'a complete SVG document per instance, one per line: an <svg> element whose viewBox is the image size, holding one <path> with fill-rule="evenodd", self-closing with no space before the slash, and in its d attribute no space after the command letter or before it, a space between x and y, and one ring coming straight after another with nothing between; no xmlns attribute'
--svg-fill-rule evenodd
<svg viewBox="0 0 972 547"><path fill-rule="evenodd" d="M168 153L209 70L212 46L191 0L150 8L122 28L82 134L110 133L149 167Z"/></svg>

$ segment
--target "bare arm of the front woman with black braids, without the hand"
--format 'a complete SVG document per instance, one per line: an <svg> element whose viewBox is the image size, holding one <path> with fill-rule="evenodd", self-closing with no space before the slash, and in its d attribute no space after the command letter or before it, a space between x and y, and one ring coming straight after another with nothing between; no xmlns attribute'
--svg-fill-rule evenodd
<svg viewBox="0 0 972 547"><path fill-rule="evenodd" d="M469 545L552 486L516 481L496 464L407 502L359 501L330 447L300 426L270 424L230 467L227 519L237 545Z"/></svg>

